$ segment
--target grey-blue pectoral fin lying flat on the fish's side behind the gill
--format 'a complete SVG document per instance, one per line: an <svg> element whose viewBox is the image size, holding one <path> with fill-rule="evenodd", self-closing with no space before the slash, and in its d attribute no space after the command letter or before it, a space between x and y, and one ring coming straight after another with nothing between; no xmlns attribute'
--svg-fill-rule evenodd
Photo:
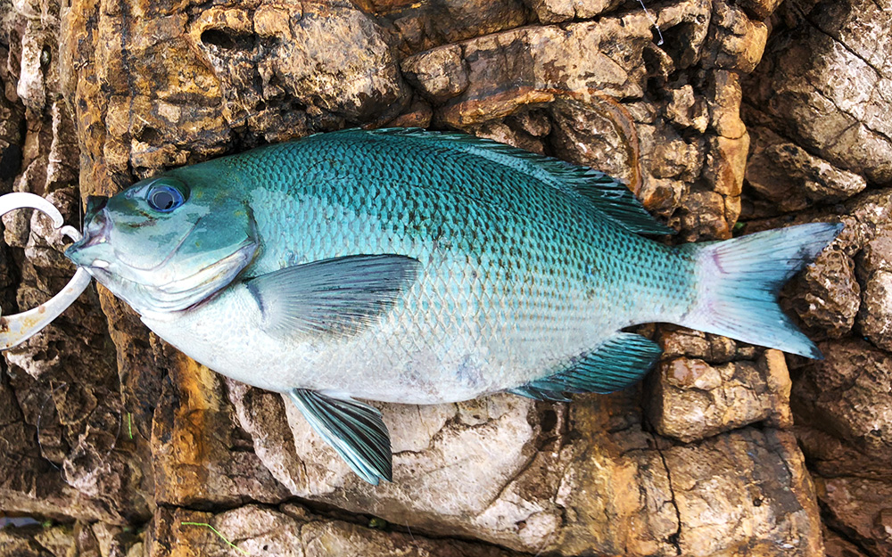
<svg viewBox="0 0 892 557"><path fill-rule="evenodd" d="M417 259L355 255L290 266L246 282L267 332L358 332L414 281Z"/></svg>

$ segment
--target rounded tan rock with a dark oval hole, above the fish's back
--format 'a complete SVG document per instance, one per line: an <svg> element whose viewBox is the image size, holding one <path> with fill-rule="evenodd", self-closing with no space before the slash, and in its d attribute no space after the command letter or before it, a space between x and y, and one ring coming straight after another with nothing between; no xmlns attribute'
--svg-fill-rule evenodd
<svg viewBox="0 0 892 557"><path fill-rule="evenodd" d="M347 119L399 110L405 98L384 29L353 7L266 5L253 20L219 7L202 13L188 39L219 78L230 125L247 119L251 127L258 113L281 111L268 102L285 98Z"/></svg>

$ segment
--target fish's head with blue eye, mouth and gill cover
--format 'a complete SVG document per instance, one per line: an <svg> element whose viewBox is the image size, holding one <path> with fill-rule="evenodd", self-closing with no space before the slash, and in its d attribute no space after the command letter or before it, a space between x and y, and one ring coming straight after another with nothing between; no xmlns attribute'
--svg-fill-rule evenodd
<svg viewBox="0 0 892 557"><path fill-rule="evenodd" d="M88 198L83 238L65 255L142 315L209 299L251 263L259 241L238 188L200 166Z"/></svg>

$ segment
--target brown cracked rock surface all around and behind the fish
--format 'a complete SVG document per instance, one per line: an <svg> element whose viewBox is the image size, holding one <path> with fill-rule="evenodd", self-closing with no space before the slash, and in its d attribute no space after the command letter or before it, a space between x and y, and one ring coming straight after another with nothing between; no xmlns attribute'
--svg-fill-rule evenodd
<svg viewBox="0 0 892 557"><path fill-rule="evenodd" d="M667 242L847 229L785 291L826 360L646 326L665 356L640 388L380 405L379 487L90 289L4 354L0 512L38 524L0 530L0 556L817 556L822 530L828 554L892 554L889 10L776 8L661 4L657 45L614 0L2 4L0 191L73 225L164 168L421 126L619 176ZM5 313L72 272L44 217L4 217Z"/></svg>

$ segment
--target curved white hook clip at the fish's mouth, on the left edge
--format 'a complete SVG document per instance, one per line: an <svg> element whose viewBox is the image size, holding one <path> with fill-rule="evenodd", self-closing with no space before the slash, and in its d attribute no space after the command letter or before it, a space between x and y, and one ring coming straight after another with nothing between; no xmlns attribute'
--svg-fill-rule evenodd
<svg viewBox="0 0 892 557"><path fill-rule="evenodd" d="M0 215L15 209L37 209L53 219L53 225L59 232L77 242L81 234L73 226L62 226L64 218L53 203L34 193L14 192L0 196ZM78 267L78 271L61 292L43 304L21 314L0 316L0 350L20 345L29 340L56 317L62 314L81 292L87 290L92 277L87 269Z"/></svg>

